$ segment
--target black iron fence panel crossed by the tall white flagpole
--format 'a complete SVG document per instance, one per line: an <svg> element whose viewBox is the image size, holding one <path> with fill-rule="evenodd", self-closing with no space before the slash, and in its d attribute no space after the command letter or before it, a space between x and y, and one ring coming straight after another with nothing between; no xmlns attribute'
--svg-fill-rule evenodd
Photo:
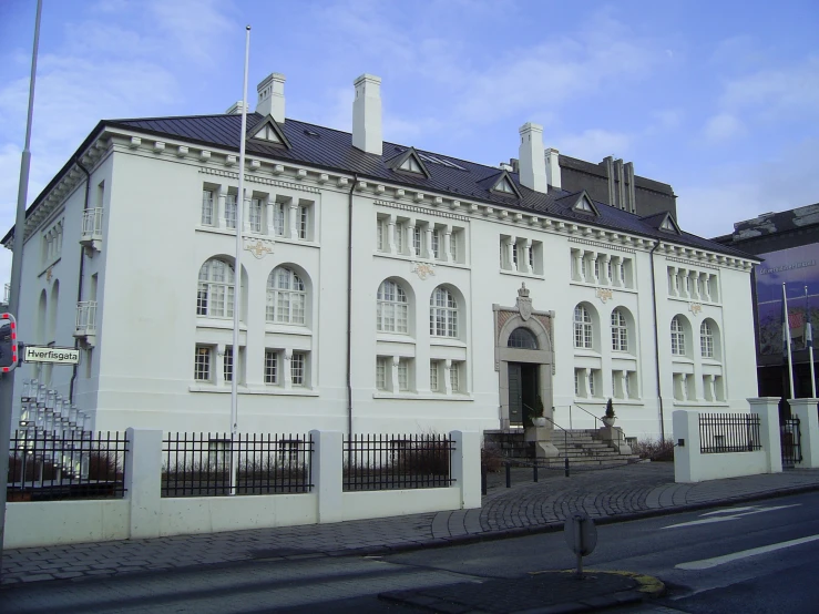
<svg viewBox="0 0 819 614"><path fill-rule="evenodd" d="M171 433L162 442L162 497L310 492L313 449L309 434Z"/></svg>

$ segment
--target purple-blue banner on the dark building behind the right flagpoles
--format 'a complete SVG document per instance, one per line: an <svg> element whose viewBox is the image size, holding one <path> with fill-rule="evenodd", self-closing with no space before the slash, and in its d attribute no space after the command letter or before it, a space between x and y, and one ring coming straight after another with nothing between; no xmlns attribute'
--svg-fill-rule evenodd
<svg viewBox="0 0 819 614"><path fill-rule="evenodd" d="M771 254L755 267L757 313L759 315L759 354L782 352L782 283L788 296L788 324L791 349L805 349L807 314L819 328L819 245L802 245ZM808 298L805 298L805 286ZM816 341L815 341L816 344Z"/></svg>

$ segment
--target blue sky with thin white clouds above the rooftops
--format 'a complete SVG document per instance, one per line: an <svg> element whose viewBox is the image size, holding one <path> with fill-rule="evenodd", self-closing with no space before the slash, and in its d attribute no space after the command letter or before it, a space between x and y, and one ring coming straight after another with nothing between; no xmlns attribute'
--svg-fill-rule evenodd
<svg viewBox="0 0 819 614"><path fill-rule="evenodd" d="M13 225L34 0L0 0L0 229ZM668 183L683 229L819 202L819 3L756 0L44 0L30 204L103 119L222 113L284 73L286 115L496 165L518 129ZM0 280L11 253L0 249Z"/></svg>

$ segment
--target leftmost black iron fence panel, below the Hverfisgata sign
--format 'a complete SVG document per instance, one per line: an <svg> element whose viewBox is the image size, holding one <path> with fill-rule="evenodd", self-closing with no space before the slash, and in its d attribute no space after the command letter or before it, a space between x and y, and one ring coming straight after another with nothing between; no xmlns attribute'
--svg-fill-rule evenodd
<svg viewBox="0 0 819 614"><path fill-rule="evenodd" d="M9 448L9 501L121 499L127 440L119 432L18 430Z"/></svg>

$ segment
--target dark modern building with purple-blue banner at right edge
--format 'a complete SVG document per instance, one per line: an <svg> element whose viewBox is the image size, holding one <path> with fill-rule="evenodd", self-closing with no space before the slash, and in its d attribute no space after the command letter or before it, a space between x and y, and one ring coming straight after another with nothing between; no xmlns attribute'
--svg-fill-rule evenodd
<svg viewBox="0 0 819 614"><path fill-rule="evenodd" d="M819 203L737 222L731 234L714 241L762 260L753 273L759 396L790 396L782 356L781 287L786 284L794 391L797 398L810 397L805 324L810 317L813 330L819 330Z"/></svg>

